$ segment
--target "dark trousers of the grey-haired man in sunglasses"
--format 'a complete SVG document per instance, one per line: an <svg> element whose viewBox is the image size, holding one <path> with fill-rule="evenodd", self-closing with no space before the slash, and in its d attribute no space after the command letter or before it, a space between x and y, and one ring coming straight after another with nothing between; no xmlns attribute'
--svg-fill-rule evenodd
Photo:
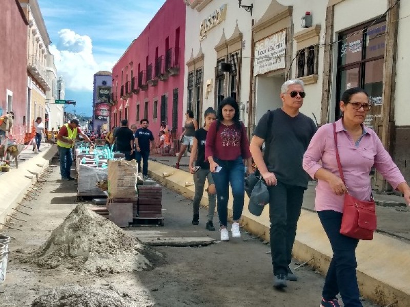
<svg viewBox="0 0 410 307"><path fill-rule="evenodd" d="M278 182L268 190L273 274L288 274L305 189Z"/></svg>

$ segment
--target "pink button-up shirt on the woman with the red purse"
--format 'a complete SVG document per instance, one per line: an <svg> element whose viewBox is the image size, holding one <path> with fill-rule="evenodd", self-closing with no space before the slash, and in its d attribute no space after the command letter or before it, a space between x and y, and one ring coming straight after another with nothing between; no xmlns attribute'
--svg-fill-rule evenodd
<svg viewBox="0 0 410 307"><path fill-rule="evenodd" d="M352 196L363 201L370 199L372 186L369 173L373 166L394 189L400 183L405 182L399 168L384 149L375 131L366 127L357 147L347 131L344 130L341 119L336 122L336 133L337 148L339 149L346 187ZM322 165L319 164L320 160ZM303 156L303 169L312 178L321 167L340 177L336 161L333 124L323 125L317 130ZM336 195L327 182L318 180L315 199L316 211L343 212L343 200L344 196Z"/></svg>

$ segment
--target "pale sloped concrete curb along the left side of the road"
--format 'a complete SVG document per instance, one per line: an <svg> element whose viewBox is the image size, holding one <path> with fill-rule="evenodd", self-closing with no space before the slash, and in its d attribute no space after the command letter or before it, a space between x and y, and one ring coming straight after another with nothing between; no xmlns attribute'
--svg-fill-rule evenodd
<svg viewBox="0 0 410 307"><path fill-rule="evenodd" d="M13 209L18 207L17 203L23 200L29 187L50 164L56 152L57 145L53 145L48 150L20 164L17 169L13 168L0 176L0 223L6 224L9 219L7 214L11 215ZM0 229L7 229L7 227L0 225Z"/></svg>

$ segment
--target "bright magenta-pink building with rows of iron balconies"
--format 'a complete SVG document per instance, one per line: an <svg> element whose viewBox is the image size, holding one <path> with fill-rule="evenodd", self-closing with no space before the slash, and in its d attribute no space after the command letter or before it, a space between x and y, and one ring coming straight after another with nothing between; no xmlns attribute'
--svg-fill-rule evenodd
<svg viewBox="0 0 410 307"><path fill-rule="evenodd" d="M182 132L185 10L167 0L113 67L111 126L148 118L155 137L161 121Z"/></svg>

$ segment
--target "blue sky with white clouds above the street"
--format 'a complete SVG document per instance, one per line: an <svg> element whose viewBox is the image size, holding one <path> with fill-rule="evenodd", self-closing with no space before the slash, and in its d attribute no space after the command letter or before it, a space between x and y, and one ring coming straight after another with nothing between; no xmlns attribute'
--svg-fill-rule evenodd
<svg viewBox="0 0 410 307"><path fill-rule="evenodd" d="M57 75L75 113L92 114L93 75L112 67L165 0L38 0ZM73 112L74 106L66 107Z"/></svg>

